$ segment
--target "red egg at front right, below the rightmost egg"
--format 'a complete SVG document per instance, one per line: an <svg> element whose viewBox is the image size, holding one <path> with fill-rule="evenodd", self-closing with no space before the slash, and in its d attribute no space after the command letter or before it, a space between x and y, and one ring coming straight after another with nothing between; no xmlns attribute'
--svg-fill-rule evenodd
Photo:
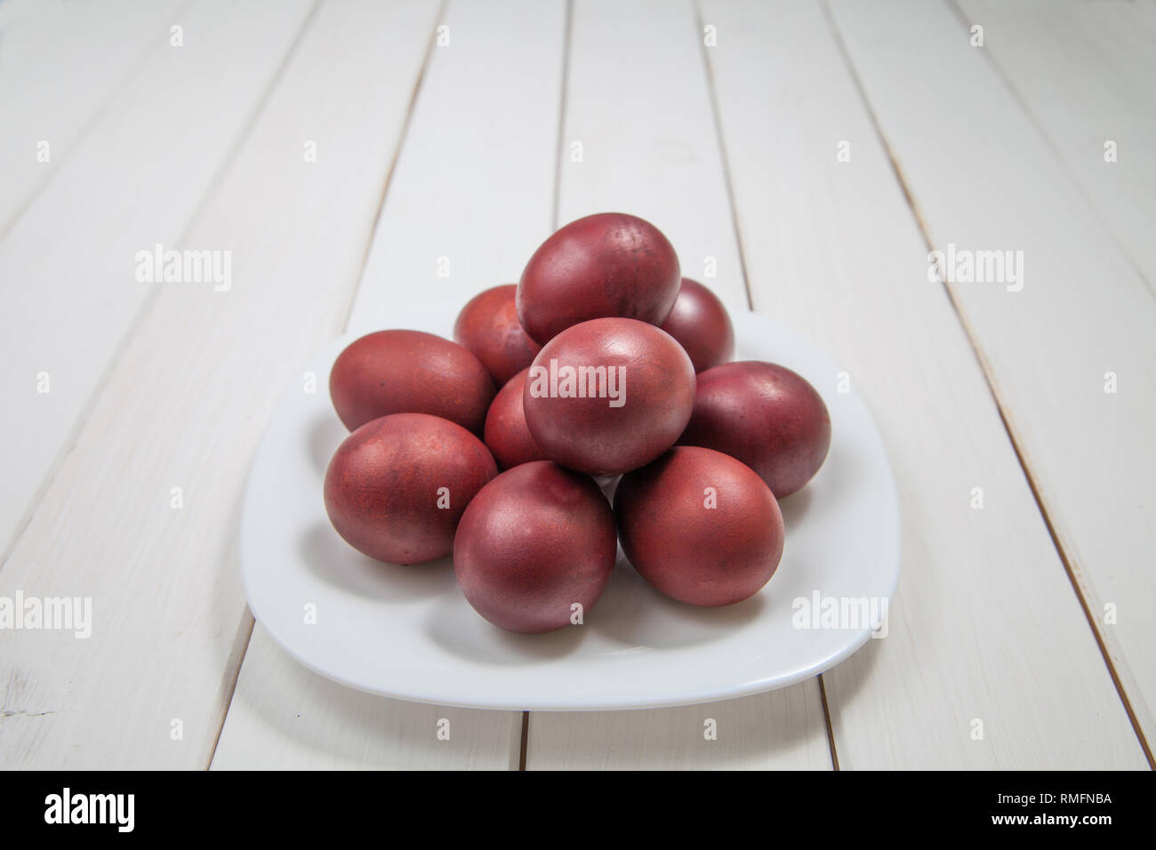
<svg viewBox="0 0 1156 850"><path fill-rule="evenodd" d="M783 515L748 466L676 446L622 476L614 496L622 549L657 590L688 605L757 593L783 557Z"/></svg>

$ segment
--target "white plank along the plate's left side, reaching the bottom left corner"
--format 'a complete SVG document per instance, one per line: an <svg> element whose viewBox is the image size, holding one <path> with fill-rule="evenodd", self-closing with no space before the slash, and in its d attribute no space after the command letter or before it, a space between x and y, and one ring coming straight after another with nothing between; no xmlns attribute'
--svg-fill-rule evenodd
<svg viewBox="0 0 1156 850"><path fill-rule="evenodd" d="M0 594L91 597L94 619L87 641L5 634L5 767L208 763L251 626L247 465L344 317L435 21L428 2L325 3L185 234L232 252L232 287L154 289L0 570Z"/></svg>

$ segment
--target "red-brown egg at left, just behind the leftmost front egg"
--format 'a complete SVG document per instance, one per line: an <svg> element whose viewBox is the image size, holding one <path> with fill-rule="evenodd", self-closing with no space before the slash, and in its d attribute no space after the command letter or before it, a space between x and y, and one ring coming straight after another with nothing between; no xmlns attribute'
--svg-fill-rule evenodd
<svg viewBox="0 0 1156 850"><path fill-rule="evenodd" d="M329 396L349 430L391 413L428 413L481 434L494 382L457 342L421 331L378 331L338 356Z"/></svg>

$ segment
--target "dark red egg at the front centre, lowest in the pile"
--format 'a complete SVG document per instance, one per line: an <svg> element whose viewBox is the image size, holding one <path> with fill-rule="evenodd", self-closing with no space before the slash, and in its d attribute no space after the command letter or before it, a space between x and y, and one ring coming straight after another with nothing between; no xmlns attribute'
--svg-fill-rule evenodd
<svg viewBox="0 0 1156 850"><path fill-rule="evenodd" d="M453 568L479 614L536 634L588 615L616 553L614 516L598 486L536 460L503 472L469 503Z"/></svg>

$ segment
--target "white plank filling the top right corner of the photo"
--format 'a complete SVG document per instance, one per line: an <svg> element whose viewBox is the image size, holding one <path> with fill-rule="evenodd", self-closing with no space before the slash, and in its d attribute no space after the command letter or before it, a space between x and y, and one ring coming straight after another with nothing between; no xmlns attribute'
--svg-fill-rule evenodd
<svg viewBox="0 0 1156 850"><path fill-rule="evenodd" d="M1156 7L963 0L984 50L1156 291ZM1105 162L1105 145L1116 145Z"/></svg>

